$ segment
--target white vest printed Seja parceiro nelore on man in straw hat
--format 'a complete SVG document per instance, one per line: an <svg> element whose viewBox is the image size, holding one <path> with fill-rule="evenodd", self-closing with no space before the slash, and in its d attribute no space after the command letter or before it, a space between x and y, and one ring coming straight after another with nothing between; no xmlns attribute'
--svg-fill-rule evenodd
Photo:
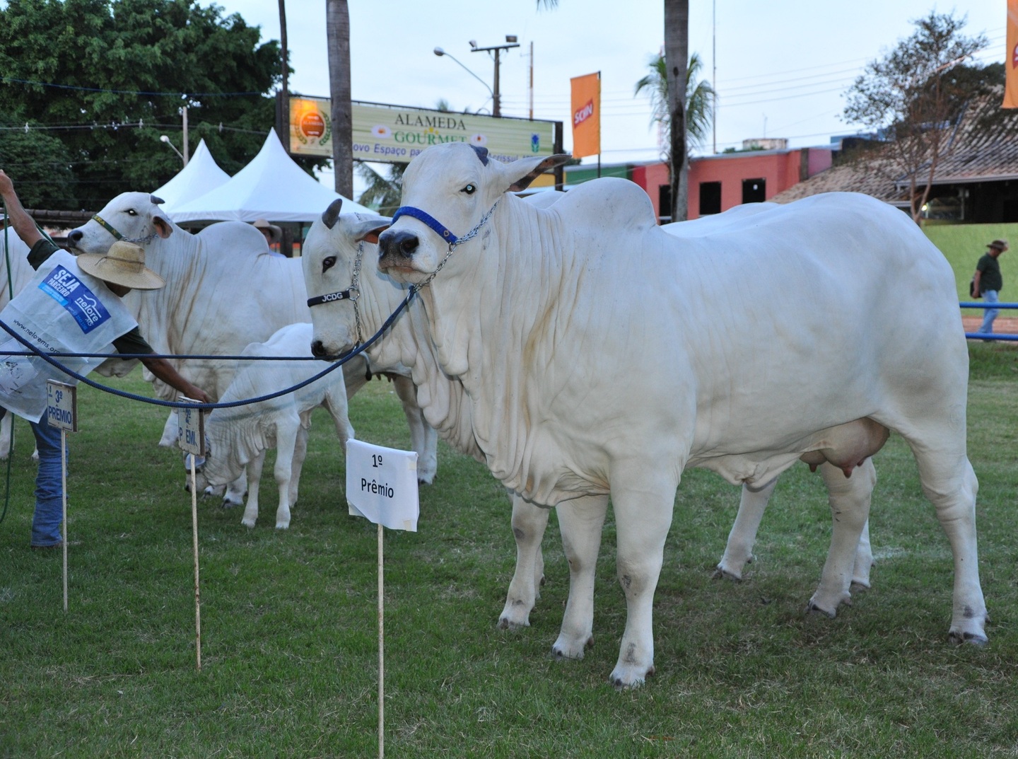
<svg viewBox="0 0 1018 759"><path fill-rule="evenodd" d="M57 251L39 267L33 280L0 311L0 321L42 353L112 354L110 344L137 326L105 282L77 268L74 257ZM38 356L11 356L27 350L0 330L0 405L31 422L46 413L46 381L76 383ZM84 375L103 359L59 358Z"/></svg>

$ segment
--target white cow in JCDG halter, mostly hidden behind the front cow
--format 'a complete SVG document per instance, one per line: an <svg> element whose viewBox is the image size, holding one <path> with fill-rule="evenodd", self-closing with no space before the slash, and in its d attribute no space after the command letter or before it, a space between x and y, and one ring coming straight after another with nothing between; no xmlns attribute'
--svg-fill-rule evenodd
<svg viewBox="0 0 1018 759"><path fill-rule="evenodd" d="M544 194L539 198L547 202L550 194ZM532 202L531 198L526 200ZM406 291L390 277L379 272L377 267L372 266L372 261L377 256L377 247L374 242L389 220L355 214L341 215L340 210L341 203L337 201L312 225L304 240L302 262L309 294L342 293L347 290L351 282L358 282L360 297L356 303L346 297L331 296L323 299L323 303L312 310L313 320L319 325L320 335L328 335L331 345L351 347L356 341L358 319L365 325L372 325L370 329L374 332L390 314L396 311ZM411 302L408 307L409 313L397 319L385 337L367 349L373 367L380 371L397 367L406 371L405 367L416 367L418 376L428 376L429 372L437 371L437 359L419 308L418 301ZM359 315L357 310L360 311ZM324 355L321 339L313 346L313 350ZM447 379L449 386L444 388L444 391L450 398L463 392L462 384L458 380ZM484 463L483 453L476 447L472 435L452 435L449 437L449 442L462 452L474 455ZM821 472L826 480L831 481L832 508L837 511L840 508L837 498L844 490L842 487L844 475L833 467L822 468ZM857 482L860 479L868 481L868 488L861 488L864 497L868 499L875 483L872 463L866 459L854 477ZM743 485L739 514L732 527L725 554L718 565L720 576L741 579L743 566L751 558L756 530L775 483L776 480L773 480L762 488ZM540 597L541 583L544 580L541 542L548 526L549 509L528 503L516 494L512 495L512 504L516 568L509 584L505 605L499 615L499 627L516 629L529 625L530 611ZM860 504L860 507L868 510L868 503ZM869 586L871 563L872 554L864 530L853 565L853 584ZM833 613L833 609L825 611Z"/></svg>

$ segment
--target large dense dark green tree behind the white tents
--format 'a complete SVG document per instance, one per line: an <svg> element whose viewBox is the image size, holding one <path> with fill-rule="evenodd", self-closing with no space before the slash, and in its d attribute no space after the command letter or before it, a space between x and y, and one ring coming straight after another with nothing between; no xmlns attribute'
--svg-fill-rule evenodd
<svg viewBox="0 0 1018 759"><path fill-rule="evenodd" d="M97 210L151 191L204 138L236 173L275 124L275 40L195 0L8 0L0 6L0 167L27 207ZM321 161L319 161L321 163Z"/></svg>

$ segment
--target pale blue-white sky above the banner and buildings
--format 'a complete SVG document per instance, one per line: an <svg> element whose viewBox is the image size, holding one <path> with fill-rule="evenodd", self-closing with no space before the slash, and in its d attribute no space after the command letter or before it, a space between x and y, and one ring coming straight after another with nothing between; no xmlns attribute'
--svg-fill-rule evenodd
<svg viewBox="0 0 1018 759"><path fill-rule="evenodd" d="M203 4L208 4L202 0ZM217 0L279 39L278 0ZM936 10L967 16L964 34L984 34L989 47L980 63L1005 57L1006 0L692 0L689 50L699 54L701 78L716 85L719 152L754 138L787 138L790 147L826 145L856 130L841 118L843 94L868 61L911 35L911 21ZM529 111L530 44L533 43L533 117L568 124L569 79L601 71L602 162L651 161L660 155L646 96L636 82L664 43L660 0L559 0L538 10L535 0L350 0L354 100L452 110L491 109L494 61L478 47L516 35L520 47L501 56L503 115ZM716 11L715 11L716 9ZM716 12L716 16L715 16ZM290 0L287 31L295 73L290 90L328 96L324 0ZM478 82L448 56L442 47ZM716 66L716 70L715 70ZM715 140L694 150L713 152ZM596 157L585 158L584 164ZM330 182L331 183L331 182Z"/></svg>

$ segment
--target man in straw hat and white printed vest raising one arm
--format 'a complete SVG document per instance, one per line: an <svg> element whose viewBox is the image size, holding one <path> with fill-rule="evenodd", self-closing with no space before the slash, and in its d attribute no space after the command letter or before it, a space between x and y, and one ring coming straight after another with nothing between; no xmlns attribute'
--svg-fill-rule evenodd
<svg viewBox="0 0 1018 759"><path fill-rule="evenodd" d="M60 431L41 421L46 412L46 380L73 381L38 356L16 356L24 345L10 337L19 334L46 353L119 353L136 356L156 377L187 397L204 403L209 395L177 373L165 359L152 356L137 322L120 302L132 289L159 289L165 282L145 265L145 249L119 240L105 254L75 258L43 236L21 207L14 185L0 170L0 197L17 236L32 250L29 263L37 274L0 312L0 406L29 420L39 448L36 511L32 547L58 548L63 511ZM78 374L88 374L100 358L65 358L61 362Z"/></svg>

